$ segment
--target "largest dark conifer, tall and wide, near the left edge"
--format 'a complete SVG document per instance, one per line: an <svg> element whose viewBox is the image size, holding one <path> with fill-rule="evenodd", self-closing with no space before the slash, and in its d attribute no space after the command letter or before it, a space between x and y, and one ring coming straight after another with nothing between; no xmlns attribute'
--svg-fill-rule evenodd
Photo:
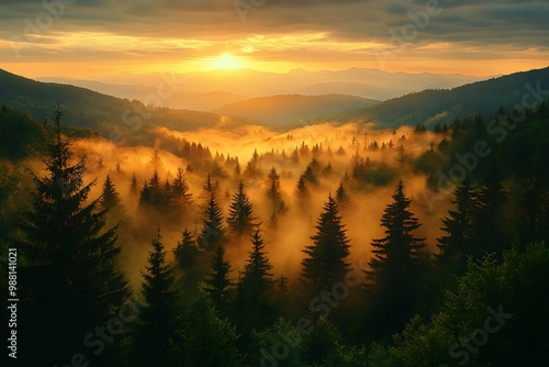
<svg viewBox="0 0 549 367"><path fill-rule="evenodd" d="M44 160L46 175L33 175L32 210L19 225L14 247L21 262L18 359L25 366L65 365L82 351L82 337L110 320L128 296L115 270L116 227L104 229L105 211L88 201L96 181L83 184L85 159L76 165L70 141L55 112L55 143ZM113 337L110 346L120 345ZM108 351L112 351L108 346ZM90 355L98 365L116 364L109 352Z"/></svg>

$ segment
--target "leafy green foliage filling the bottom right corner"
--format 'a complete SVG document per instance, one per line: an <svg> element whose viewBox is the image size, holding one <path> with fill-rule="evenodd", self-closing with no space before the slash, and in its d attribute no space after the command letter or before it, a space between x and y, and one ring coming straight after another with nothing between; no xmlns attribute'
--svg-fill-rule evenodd
<svg viewBox="0 0 549 367"><path fill-rule="evenodd" d="M549 249L542 244L470 262L432 320L412 319L394 345L376 345L370 366L531 366L549 347ZM528 330L527 334L520 333Z"/></svg>

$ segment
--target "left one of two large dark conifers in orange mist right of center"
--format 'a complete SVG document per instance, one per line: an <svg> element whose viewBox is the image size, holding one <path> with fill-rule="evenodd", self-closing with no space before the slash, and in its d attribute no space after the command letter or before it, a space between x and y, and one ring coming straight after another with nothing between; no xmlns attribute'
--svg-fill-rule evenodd
<svg viewBox="0 0 549 367"><path fill-rule="evenodd" d="M317 220L316 234L311 240L313 244L305 246L303 251L303 278L313 291L329 289L345 278L349 268L345 262L349 255L349 240L339 216L337 202L332 194L324 203Z"/></svg>

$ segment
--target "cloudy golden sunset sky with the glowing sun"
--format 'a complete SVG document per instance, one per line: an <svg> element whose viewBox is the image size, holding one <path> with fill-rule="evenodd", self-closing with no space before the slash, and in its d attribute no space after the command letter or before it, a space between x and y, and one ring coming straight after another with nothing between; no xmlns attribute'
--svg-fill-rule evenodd
<svg viewBox="0 0 549 367"><path fill-rule="evenodd" d="M491 76L549 65L548 15L548 0L0 0L0 68Z"/></svg>

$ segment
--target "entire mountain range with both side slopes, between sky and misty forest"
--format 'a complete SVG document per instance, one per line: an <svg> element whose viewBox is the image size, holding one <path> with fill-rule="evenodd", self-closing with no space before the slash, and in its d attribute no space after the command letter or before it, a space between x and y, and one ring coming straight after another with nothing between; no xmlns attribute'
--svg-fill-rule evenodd
<svg viewBox="0 0 549 367"><path fill-rule="evenodd" d="M324 79L320 77L323 74L325 74ZM357 78L357 75L369 75L371 76L370 80L373 81L377 80L376 78L386 77L388 88L394 88L396 79L402 81L402 86L408 86L408 88L414 80L422 80L425 86L434 86L445 82L456 84L457 80L467 79L467 77L461 76L449 76L444 79L435 75L421 75L421 77L406 74L390 75L385 71L371 69L314 73L293 70L282 76L246 69L215 70L210 74L188 74L184 82L179 76L169 76L177 86L176 93L171 98L187 93L188 99L195 98L197 107L200 105L210 111L204 112L146 105L136 98L138 93L147 93L144 98L146 102L147 96L163 96L160 92L165 91L160 85L164 82L166 86L170 82L167 80L167 75L137 76L125 74L110 80L110 82L114 79L125 81L125 84L119 85L88 81L88 87L92 89L113 90L113 86L116 86L119 97L133 90L135 100L130 100L127 97L116 98L67 84L41 82L0 69L0 102L22 109L34 118L44 120L52 115L55 103L59 101L68 111L65 118L67 123L80 127L91 127L102 134L113 129L127 129L126 125L135 119L142 120L145 127L167 126L178 131L214 126L219 125L221 121L223 121L224 126L255 123L276 130L283 130L295 123L312 124L326 121L337 123L373 122L378 129L416 124L432 129L436 123L451 123L456 119L477 113L491 118L500 107L507 108L520 104L523 96L531 90L544 91L541 94L545 98L547 94L545 90L548 89L549 85L548 67L474 81L450 89L430 88L383 102L354 94L327 93L333 90L332 88L339 88L339 91L352 88L357 91L367 88L365 84L358 82L362 79ZM243 76L246 78L240 80L239 78ZM266 79L259 80L259 76ZM288 92L269 94L269 92L274 91L276 86L283 86L284 80L290 80L289 76L292 76L292 80L296 80L295 84L289 85L285 89L279 89L279 92L299 89L311 93L314 90L325 93L317 96ZM350 79L354 76L356 82L322 81L327 78ZM281 79L276 79L277 77ZM317 79L314 79L315 77ZM159 86L153 87L154 80ZM317 82L313 82L314 80ZM406 80L407 82L404 82ZM200 88L199 81L202 84ZM70 82L70 80L65 80L65 82ZM380 80L377 80L376 85L380 85ZM232 86L233 91L235 91L234 89L238 90L235 91L236 93L233 91L212 91L223 90L224 86L227 88ZM270 87L266 87L265 94L260 97L245 98L247 94L259 93L260 86ZM191 96L193 97L191 98ZM158 98L160 104L166 99L169 98Z"/></svg>

